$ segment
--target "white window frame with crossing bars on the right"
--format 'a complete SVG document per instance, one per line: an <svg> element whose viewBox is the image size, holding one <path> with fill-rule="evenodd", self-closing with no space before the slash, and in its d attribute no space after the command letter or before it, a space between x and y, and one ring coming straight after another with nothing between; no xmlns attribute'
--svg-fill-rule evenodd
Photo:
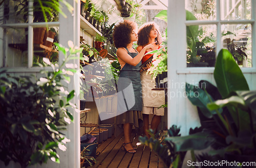
<svg viewBox="0 0 256 168"><path fill-rule="evenodd" d="M241 0L240 0L241 1ZM250 20L221 20L221 2L220 0L216 0L216 20L186 20L185 17L185 0L183 1L174 1L170 0L168 3L168 53L172 53L175 51L176 55L179 55L176 60L179 65L177 68L178 74L187 74L187 73L213 73L214 67L186 67L186 26L189 25L207 25L207 24L215 24L217 25L217 39L216 39L216 51L217 53L223 48L222 47L222 37L221 37L221 25L222 24L240 24L240 23L250 23L252 26L251 38L252 38L252 67L251 68L241 68L243 73L252 73L256 72L256 26L255 26L255 9L256 2L251 0L251 19ZM177 20L176 17L179 17ZM174 23L175 22L175 23ZM175 25L174 25L175 24ZM176 27L176 25L179 25ZM182 26L183 25L183 26ZM182 27L181 27L182 26ZM172 34L175 32L175 34ZM176 43L176 44L174 44ZM176 46L176 47L174 47ZM183 47L183 49L181 48ZM172 50L173 49L173 50ZM179 49L180 51L177 51ZM173 61L172 55L169 57ZM180 62L182 61L182 62ZM177 63L176 62L176 63ZM184 63L183 63L184 62ZM171 63L168 62L168 65ZM168 68L169 69L169 68Z"/></svg>

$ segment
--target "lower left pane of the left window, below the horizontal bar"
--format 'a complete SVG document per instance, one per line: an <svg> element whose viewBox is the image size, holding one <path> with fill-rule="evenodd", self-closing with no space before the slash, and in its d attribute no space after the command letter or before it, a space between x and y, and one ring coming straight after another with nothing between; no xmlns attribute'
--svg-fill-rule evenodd
<svg viewBox="0 0 256 168"><path fill-rule="evenodd" d="M2 29L4 67L27 67L28 65L28 42L25 35L27 29Z"/></svg>

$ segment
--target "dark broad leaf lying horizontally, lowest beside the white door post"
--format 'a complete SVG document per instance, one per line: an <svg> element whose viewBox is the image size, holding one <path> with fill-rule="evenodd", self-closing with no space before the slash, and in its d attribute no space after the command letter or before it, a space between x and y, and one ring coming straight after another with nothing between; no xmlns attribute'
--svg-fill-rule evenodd
<svg viewBox="0 0 256 168"><path fill-rule="evenodd" d="M198 132L187 136L166 137L164 141L172 141L176 151L202 150L215 142L209 133Z"/></svg>

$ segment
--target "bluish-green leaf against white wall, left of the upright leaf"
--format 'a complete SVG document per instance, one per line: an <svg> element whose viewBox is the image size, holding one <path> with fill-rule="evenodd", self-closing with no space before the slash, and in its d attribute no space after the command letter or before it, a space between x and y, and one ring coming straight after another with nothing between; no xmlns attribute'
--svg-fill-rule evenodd
<svg viewBox="0 0 256 168"><path fill-rule="evenodd" d="M214 110L210 111L207 108L207 104L214 101L214 99L204 90L197 86L189 85L186 83L186 94L190 102L198 106L205 117L212 118L212 115L216 114Z"/></svg>

